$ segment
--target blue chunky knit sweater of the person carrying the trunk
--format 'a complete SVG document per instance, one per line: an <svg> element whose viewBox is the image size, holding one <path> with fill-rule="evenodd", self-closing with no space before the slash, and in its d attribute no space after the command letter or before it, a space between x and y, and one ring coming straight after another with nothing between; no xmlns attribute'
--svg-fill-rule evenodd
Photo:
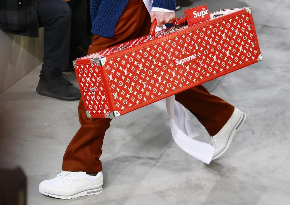
<svg viewBox="0 0 290 205"><path fill-rule="evenodd" d="M91 0L92 33L113 37L118 20L128 2L129 0ZM175 0L153 0L152 7L175 10Z"/></svg>

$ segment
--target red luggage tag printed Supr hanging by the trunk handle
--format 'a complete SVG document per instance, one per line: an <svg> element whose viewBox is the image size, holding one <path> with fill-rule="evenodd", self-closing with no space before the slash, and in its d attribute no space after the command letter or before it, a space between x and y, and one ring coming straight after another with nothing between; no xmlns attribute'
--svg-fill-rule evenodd
<svg viewBox="0 0 290 205"><path fill-rule="evenodd" d="M211 19L206 5L184 10L188 25Z"/></svg>

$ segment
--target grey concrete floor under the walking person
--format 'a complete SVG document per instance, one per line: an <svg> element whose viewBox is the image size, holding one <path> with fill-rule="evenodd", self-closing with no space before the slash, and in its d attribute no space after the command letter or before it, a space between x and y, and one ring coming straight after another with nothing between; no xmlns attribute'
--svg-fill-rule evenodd
<svg viewBox="0 0 290 205"><path fill-rule="evenodd" d="M202 4L211 12L251 6L263 54L261 63L206 84L247 113L228 151L209 165L182 151L171 137L162 100L112 121L101 156L103 193L45 197L38 184L61 170L79 128L78 102L38 95L38 66L0 95L0 160L27 174L29 205L290 204L290 1L205 0L191 7ZM70 78L76 84L73 73ZM200 138L208 140L193 120Z"/></svg>

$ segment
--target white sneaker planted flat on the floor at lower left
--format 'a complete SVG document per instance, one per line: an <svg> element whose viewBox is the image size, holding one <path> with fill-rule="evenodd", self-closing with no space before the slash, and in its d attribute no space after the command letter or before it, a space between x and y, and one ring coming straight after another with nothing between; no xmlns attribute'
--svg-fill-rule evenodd
<svg viewBox="0 0 290 205"><path fill-rule="evenodd" d="M42 181L38 190L41 194L59 199L99 194L103 191L103 172L90 176L82 171L61 171L57 177Z"/></svg>

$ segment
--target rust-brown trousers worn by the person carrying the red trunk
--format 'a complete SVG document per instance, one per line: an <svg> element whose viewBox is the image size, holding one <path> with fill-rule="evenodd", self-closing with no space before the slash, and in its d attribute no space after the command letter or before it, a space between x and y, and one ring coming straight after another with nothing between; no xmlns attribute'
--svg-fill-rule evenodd
<svg viewBox="0 0 290 205"><path fill-rule="evenodd" d="M118 21L114 37L105 38L95 35L89 47L89 54L146 35L149 33L150 25L150 15L143 1L130 0ZM209 94L201 85L176 94L175 100L190 110L211 136L218 133L234 112L232 105ZM81 128L72 138L63 156L63 170L101 171L101 148L111 119L87 118L81 99L79 122Z"/></svg>

